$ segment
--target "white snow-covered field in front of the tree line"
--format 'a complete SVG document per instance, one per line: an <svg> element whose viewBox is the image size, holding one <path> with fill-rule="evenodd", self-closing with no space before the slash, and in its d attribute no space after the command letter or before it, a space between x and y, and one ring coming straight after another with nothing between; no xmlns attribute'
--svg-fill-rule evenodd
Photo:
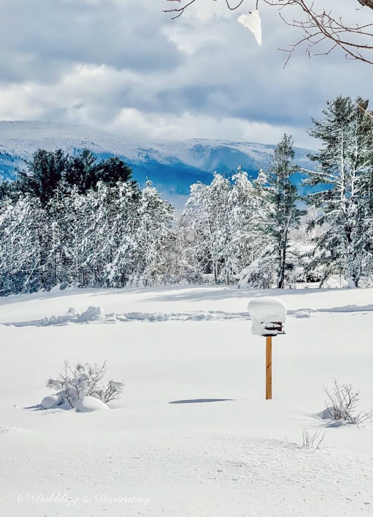
<svg viewBox="0 0 373 517"><path fill-rule="evenodd" d="M373 424L331 427L317 414L333 377L373 407L373 290L271 291L288 308L272 401L264 338L251 336L246 313L267 294L176 286L1 298L1 515L372 514ZM64 359L106 359L123 397L109 411L40 409ZM325 432L318 450L302 447L303 429Z"/></svg>

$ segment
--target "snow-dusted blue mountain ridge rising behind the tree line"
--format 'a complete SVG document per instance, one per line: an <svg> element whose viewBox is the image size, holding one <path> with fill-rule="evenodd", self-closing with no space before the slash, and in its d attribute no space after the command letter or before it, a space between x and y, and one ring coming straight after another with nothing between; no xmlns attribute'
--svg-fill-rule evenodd
<svg viewBox="0 0 373 517"><path fill-rule="evenodd" d="M37 148L77 153L88 148L100 158L118 155L142 186L146 178L167 199L181 206L196 181L210 183L214 171L231 173L239 165L254 177L267 168L274 145L223 140L137 140L78 125L41 121L0 121L0 178L13 179ZM308 150L295 148L295 162L312 165ZM296 175L300 185L302 175ZM302 190L302 189L301 189Z"/></svg>

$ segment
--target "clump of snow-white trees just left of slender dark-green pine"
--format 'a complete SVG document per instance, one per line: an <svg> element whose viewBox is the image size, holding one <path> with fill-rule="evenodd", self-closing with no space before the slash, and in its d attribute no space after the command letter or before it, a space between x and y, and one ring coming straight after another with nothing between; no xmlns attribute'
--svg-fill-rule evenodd
<svg viewBox="0 0 373 517"><path fill-rule="evenodd" d="M184 259L215 282L230 281L263 248L262 173L251 180L238 168L232 181L215 174L211 185L197 183L180 218Z"/></svg>

